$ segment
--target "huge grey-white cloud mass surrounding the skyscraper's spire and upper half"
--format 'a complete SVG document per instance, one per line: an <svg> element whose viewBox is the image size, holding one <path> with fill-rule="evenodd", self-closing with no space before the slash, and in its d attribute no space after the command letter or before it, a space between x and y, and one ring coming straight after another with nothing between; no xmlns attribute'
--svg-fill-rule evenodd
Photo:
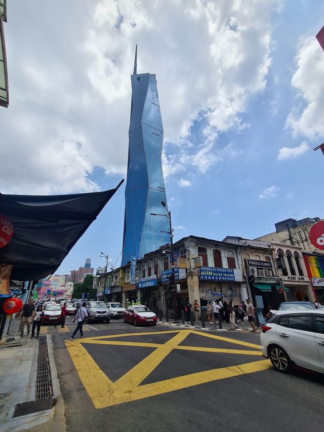
<svg viewBox="0 0 324 432"><path fill-rule="evenodd" d="M1 190L97 190L95 167L125 175L135 44L138 71L157 76L165 176L187 167L206 172L222 158L219 132L246 127L241 113L265 88L278 4L66 2L57 26L55 2L13 3L6 27L10 106L0 117ZM36 25L26 32L31 21ZM190 128L197 121L202 138L193 143Z"/></svg>

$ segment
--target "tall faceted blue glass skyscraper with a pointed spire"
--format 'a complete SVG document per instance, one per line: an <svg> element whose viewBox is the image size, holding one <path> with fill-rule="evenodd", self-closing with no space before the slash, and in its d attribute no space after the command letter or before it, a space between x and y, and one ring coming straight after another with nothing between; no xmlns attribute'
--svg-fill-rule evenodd
<svg viewBox="0 0 324 432"><path fill-rule="evenodd" d="M125 220L121 265L131 256L141 258L169 243L169 220L163 214L161 201L167 203L161 154L163 126L155 74L137 73L137 47L132 81L131 123Z"/></svg>

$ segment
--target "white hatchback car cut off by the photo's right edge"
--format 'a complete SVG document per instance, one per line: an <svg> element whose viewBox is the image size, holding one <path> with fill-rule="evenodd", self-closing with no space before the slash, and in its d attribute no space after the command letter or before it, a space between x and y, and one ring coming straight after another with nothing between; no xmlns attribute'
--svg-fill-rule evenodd
<svg viewBox="0 0 324 432"><path fill-rule="evenodd" d="M261 330L262 355L275 369L324 373L324 310L276 310Z"/></svg>

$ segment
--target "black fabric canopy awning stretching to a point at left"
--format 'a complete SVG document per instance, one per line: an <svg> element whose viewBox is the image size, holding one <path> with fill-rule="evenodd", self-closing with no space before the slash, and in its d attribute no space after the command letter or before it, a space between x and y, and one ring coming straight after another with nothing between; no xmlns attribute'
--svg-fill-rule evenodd
<svg viewBox="0 0 324 432"><path fill-rule="evenodd" d="M0 213L14 226L12 240L0 249L0 263L13 264L11 279L35 281L54 273L123 181L104 192L0 193Z"/></svg>

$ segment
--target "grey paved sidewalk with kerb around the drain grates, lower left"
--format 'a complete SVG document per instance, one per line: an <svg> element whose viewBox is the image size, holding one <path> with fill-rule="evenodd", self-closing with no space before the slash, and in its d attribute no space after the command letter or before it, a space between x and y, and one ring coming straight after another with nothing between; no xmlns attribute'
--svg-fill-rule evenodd
<svg viewBox="0 0 324 432"><path fill-rule="evenodd" d="M52 405L55 406L50 410L13 418L17 404L35 400L37 378L38 339L31 339L30 335L26 334L26 328L25 335L20 337L19 325L20 319L12 320L10 337L15 339L11 343L0 345L0 432L18 432L31 428L34 432L44 430L44 427L46 431L63 431L65 430L64 404L50 335L46 338L53 388ZM57 428L57 424L61 427Z"/></svg>

